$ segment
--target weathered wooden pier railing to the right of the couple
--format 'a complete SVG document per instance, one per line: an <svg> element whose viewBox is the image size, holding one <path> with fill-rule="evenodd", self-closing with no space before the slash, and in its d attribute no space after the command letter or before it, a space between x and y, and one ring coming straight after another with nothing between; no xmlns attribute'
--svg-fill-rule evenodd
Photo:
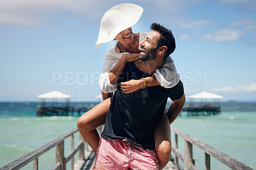
<svg viewBox="0 0 256 170"><path fill-rule="evenodd" d="M242 162L239 162L235 158L228 156L227 154L217 150L216 148L213 148L212 146L209 146L208 144L203 143L202 141L199 141L195 137L186 134L175 127L171 126L171 129L175 134L175 145L172 146L172 151L175 153L174 162L176 169L179 169L179 160L184 162L184 169L198 169L196 168L195 160L193 159L193 145L197 146L200 148L200 150L205 152L204 166L207 170L211 169L211 157L216 158L231 169L252 169ZM178 136L184 138L184 153L178 149Z"/></svg>

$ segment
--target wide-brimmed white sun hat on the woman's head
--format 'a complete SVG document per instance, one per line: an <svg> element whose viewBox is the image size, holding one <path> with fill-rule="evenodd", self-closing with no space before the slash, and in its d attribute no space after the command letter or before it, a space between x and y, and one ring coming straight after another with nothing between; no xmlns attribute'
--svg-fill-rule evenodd
<svg viewBox="0 0 256 170"><path fill-rule="evenodd" d="M100 21L100 31L95 49L102 43L114 40L121 31L134 26L142 13L141 6L131 3L118 4L110 8Z"/></svg>

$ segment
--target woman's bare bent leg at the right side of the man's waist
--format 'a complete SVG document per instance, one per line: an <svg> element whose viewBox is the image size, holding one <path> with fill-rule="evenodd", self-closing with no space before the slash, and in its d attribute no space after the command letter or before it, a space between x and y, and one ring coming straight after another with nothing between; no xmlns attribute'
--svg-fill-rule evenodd
<svg viewBox="0 0 256 170"><path fill-rule="evenodd" d="M159 168L163 169L168 164L172 151L170 121L166 113L157 126L154 137Z"/></svg>

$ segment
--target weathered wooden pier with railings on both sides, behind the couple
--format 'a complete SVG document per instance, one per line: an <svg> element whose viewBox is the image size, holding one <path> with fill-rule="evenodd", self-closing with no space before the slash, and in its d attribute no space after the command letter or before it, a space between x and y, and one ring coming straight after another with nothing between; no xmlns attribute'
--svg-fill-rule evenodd
<svg viewBox="0 0 256 170"><path fill-rule="evenodd" d="M239 162L235 158L228 156L227 154L216 150L212 146L199 141L195 137L188 135L177 128L171 126L172 133L175 134L175 142L172 146L172 155L174 154L175 157L170 159L170 162L164 169L198 169L195 166L196 160L193 159L193 145L200 148L200 150L204 151L204 166L205 169L211 169L211 157L216 158L220 162L222 162L225 166L230 167L231 169L252 169L251 167L246 166L242 162ZM84 143L83 137L79 135L79 141L74 146L74 134L78 132L77 128L70 130L69 132L57 137L56 139L50 141L47 144L44 144L40 148L31 151L27 155L14 160L10 164L1 167L0 170L11 170L11 169L20 169L29 162L33 162L33 170L38 169L38 157L43 155L46 151L51 150L52 148L56 148L56 164L52 165L52 169L67 169L67 162L71 161L71 169L78 170L78 169L92 169L94 163L94 154L93 151L90 150L88 145ZM178 147L178 136L184 139L184 153L179 150ZM64 140L70 137L71 139L71 151L64 154ZM86 150L84 150L86 149ZM78 158L75 162L74 155L78 154ZM54 158L54 155L52 155ZM184 167L181 167L179 161L184 162Z"/></svg>

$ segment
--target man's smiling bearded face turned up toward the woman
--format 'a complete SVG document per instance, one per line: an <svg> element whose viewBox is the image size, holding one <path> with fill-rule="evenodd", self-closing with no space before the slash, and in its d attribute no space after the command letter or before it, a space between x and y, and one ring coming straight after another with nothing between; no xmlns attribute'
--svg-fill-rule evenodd
<svg viewBox="0 0 256 170"><path fill-rule="evenodd" d="M140 42L141 49L145 50L140 52L139 59L142 61L150 61L157 57L157 41L160 38L160 34L157 31L150 31L145 40Z"/></svg>

